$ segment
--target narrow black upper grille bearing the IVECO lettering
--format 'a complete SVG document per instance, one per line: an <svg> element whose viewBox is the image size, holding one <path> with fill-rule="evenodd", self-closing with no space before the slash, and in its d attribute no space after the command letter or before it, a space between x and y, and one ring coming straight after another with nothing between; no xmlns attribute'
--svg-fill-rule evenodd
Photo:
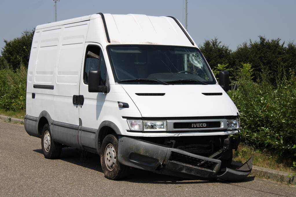
<svg viewBox="0 0 296 197"><path fill-rule="evenodd" d="M206 126L205 126L206 124ZM175 122L174 129L206 129L206 128L220 128L221 123L216 122Z"/></svg>

